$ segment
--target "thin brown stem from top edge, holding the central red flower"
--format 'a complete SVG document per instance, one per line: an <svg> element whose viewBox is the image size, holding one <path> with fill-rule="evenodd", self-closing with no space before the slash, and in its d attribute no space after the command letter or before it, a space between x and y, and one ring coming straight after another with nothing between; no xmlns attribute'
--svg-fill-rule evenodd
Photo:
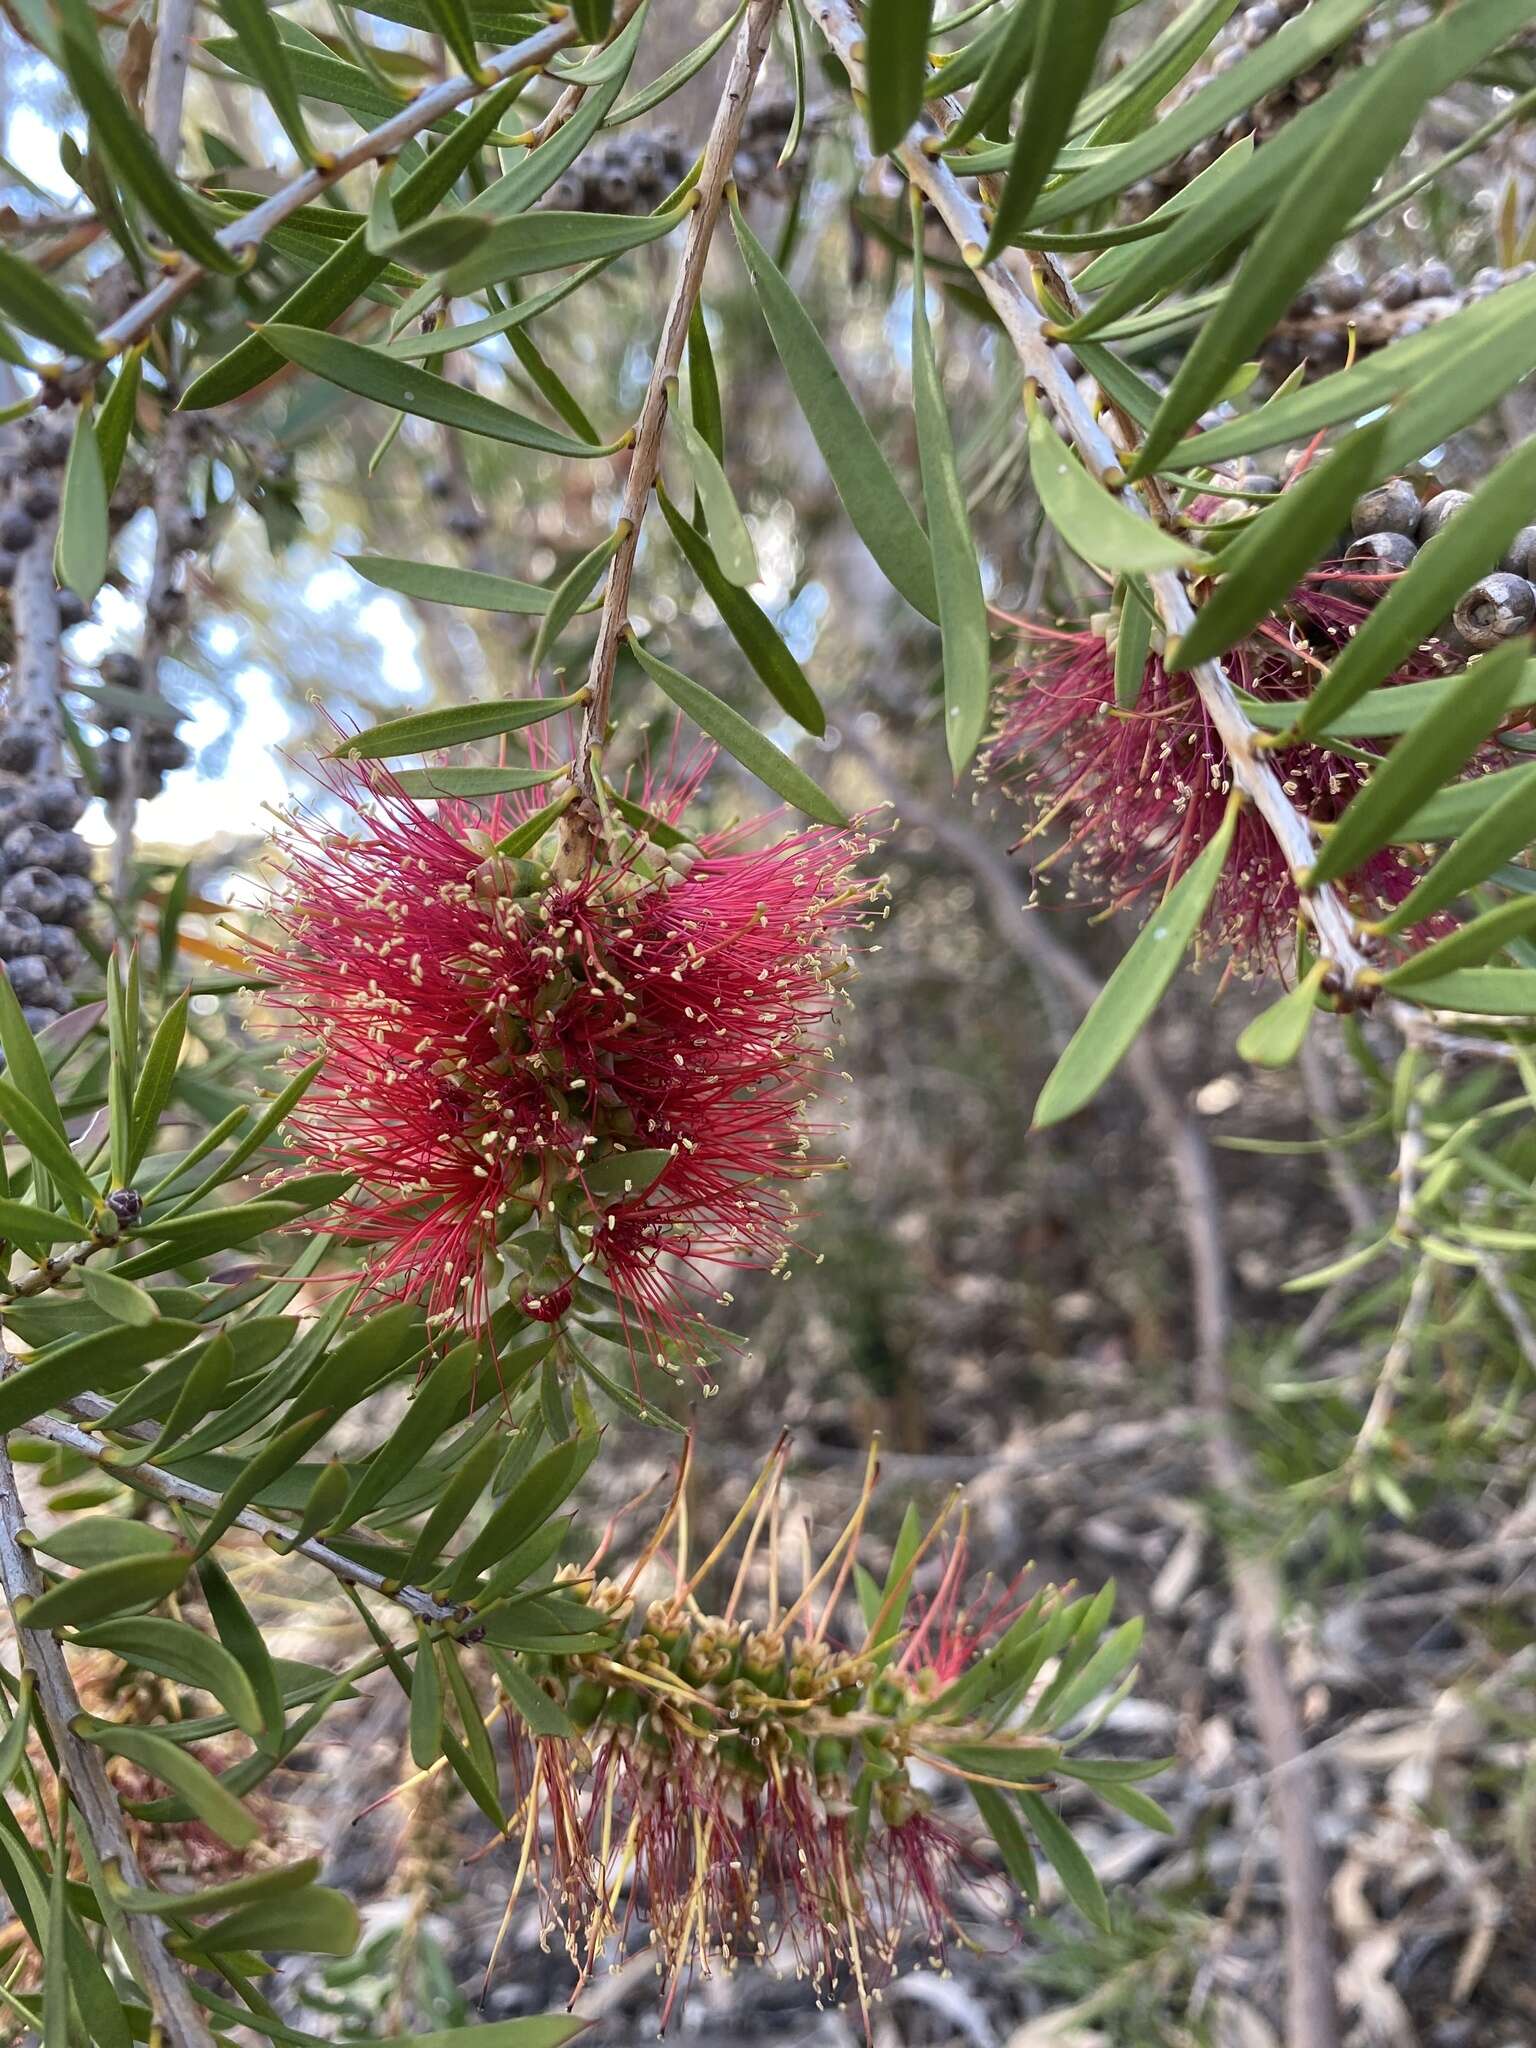
<svg viewBox="0 0 1536 2048"><path fill-rule="evenodd" d="M778 0L752 0L748 16L741 23L741 35L737 37L731 70L725 78L719 113L715 115L709 141L705 143L705 168L698 174L696 205L688 221L688 240L684 242L682 262L678 264L678 276L672 287L672 303L668 305L666 322L662 324L662 340L657 342L655 360L651 362L651 381L645 387L645 401L635 426L635 453L629 459L625 502L618 514L621 526L627 520L629 528L618 543L612 567L608 569L608 586L604 590L602 616L598 621L598 643L592 649L592 668L588 672L590 696L582 719L578 774L588 797L596 797L596 768L592 756L602 748L602 735L608 725L614 664L618 659L618 645L625 637L625 629L629 627L629 586L635 575L641 520L645 518L645 508L662 467L662 434L666 432L670 385L678 375L678 365L682 362L684 342L688 340L688 322L692 319L692 311L705 283L705 264L709 262L709 250L715 240L725 186L731 178L737 141L741 139L741 123L745 121L748 100L752 98L752 84L768 51L768 37L776 12Z"/></svg>

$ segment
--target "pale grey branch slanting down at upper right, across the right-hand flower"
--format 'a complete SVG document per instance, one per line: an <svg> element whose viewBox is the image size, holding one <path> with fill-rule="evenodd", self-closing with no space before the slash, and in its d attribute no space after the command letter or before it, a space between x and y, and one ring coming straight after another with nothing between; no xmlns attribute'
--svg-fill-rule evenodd
<svg viewBox="0 0 1536 2048"><path fill-rule="evenodd" d="M862 86L864 39L848 0L807 0L807 6L852 84ZM987 221L979 203L965 193L954 172L942 160L926 154L915 133L895 150L895 158L907 178L932 203L965 262L977 272L977 283L997 313L1026 375L1040 385L1055 406L1057 418L1075 442L1090 473L1106 489L1116 492L1120 502L1137 516L1151 518L1139 492L1124 483L1122 459L1133 453L1133 436L1122 424L1116 432L1110 432L1094 418L1051 346L1044 334L1044 315L1024 281L1004 264L983 264L981 252L987 246ZM1149 575L1147 582L1169 641L1188 633L1194 623L1194 604L1190 602L1184 578L1176 569L1163 569ZM1227 670L1221 662L1202 662L1192 670L1192 680L1210 725L1227 750L1233 782L1274 834L1292 874L1303 874L1317 858L1313 827L1296 811L1284 782L1264 754L1262 735L1241 709ZM1317 932L1323 956L1333 963L1339 987L1343 991L1356 989L1362 973L1368 969L1368 961L1360 944L1360 930L1343 899L1335 889L1325 887L1305 893L1303 907Z"/></svg>

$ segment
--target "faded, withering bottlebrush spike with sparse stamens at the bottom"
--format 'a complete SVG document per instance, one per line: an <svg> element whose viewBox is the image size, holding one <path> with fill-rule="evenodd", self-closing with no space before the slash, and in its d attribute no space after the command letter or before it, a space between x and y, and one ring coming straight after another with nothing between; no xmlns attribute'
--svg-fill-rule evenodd
<svg viewBox="0 0 1536 2048"><path fill-rule="evenodd" d="M854 1999L868 2021L903 1954L942 1962L963 1903L1006 1919L1012 1898L981 1833L932 1794L944 1780L1028 1792L1049 1782L1042 1761L1073 1767L1049 1712L1028 1733L1006 1722L1047 1655L1077 1649L1085 1663L1108 1612L1100 1602L1090 1628L1090 1602L1044 1587L1022 1606L1010 1587L967 1614L965 1536L938 1556L952 1503L926 1534L909 1518L887 1587L860 1573L854 1604L872 1456L852 1520L784 1604L784 1458L780 1444L694 1571L678 1534L670 1589L641 1606L637 1587L682 1530L684 1464L635 1569L594 1579L594 1559L571 1577L612 1647L522 1659L571 1733L535 1735L506 1712L516 1876L502 1929L532 1884L580 1982L647 1933L664 2025L692 1976L782 1946L817 2003ZM711 1610L705 1581L743 1530L729 1593ZM913 1595L930 1554L938 1585ZM748 1618L758 1595L766 1612Z"/></svg>

